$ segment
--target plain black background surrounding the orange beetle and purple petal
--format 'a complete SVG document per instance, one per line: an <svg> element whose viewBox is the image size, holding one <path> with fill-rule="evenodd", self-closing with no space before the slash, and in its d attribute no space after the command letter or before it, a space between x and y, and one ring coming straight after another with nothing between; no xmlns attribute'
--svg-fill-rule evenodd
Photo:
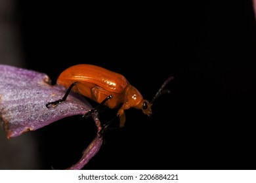
<svg viewBox="0 0 256 183"><path fill-rule="evenodd" d="M255 18L250 1L232 3L20 2L27 68L53 84L90 63L121 73L150 100L175 77L152 117L127 110L125 127L104 135L84 169L255 169ZM106 108L100 120L116 112ZM65 169L96 132L74 116L37 133L42 169Z"/></svg>

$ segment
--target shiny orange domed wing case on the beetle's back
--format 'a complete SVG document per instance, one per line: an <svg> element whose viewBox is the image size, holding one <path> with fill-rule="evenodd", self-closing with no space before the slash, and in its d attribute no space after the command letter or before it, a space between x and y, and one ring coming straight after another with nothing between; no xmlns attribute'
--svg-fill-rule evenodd
<svg viewBox="0 0 256 183"><path fill-rule="evenodd" d="M122 93L128 84L123 75L88 64L69 67L60 74L57 80L57 84L66 88L73 82L91 83L91 86L100 86L104 90L114 93Z"/></svg>

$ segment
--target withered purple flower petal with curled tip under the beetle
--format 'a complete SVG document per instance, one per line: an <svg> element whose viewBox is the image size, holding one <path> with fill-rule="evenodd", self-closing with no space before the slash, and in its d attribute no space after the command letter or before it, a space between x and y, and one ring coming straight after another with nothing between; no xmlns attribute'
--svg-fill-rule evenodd
<svg viewBox="0 0 256 183"><path fill-rule="evenodd" d="M7 138L39 129L67 116L85 114L91 108L83 97L75 93L71 93L57 107L45 106L61 99L65 92L66 89L61 86L52 86L49 77L43 73L0 65L0 121ZM95 114L92 116L99 132L100 121ZM102 138L96 133L79 162L68 169L83 168L95 156L101 144Z"/></svg>

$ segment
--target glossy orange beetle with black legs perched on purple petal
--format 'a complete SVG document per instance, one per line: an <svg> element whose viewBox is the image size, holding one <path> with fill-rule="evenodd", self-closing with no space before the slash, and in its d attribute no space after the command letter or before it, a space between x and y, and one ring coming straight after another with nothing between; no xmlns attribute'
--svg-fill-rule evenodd
<svg viewBox="0 0 256 183"><path fill-rule="evenodd" d="M121 105L117 116L119 116L120 120L119 126L123 127L125 125L124 110L128 108L133 107L141 109L144 114L151 116L152 103L160 94L169 92L169 90L163 90L163 88L170 80L173 80L172 76L165 80L154 99L149 102L143 99L140 92L129 84L123 75L96 65L74 65L63 71L56 81L58 85L68 88L64 97L58 101L47 103L46 107L49 108L50 105L56 107L56 105L66 100L72 90L99 103L97 107L89 110L89 112L84 115L85 117L91 116L91 114L96 112L102 105L106 105L109 108L117 108Z"/></svg>

